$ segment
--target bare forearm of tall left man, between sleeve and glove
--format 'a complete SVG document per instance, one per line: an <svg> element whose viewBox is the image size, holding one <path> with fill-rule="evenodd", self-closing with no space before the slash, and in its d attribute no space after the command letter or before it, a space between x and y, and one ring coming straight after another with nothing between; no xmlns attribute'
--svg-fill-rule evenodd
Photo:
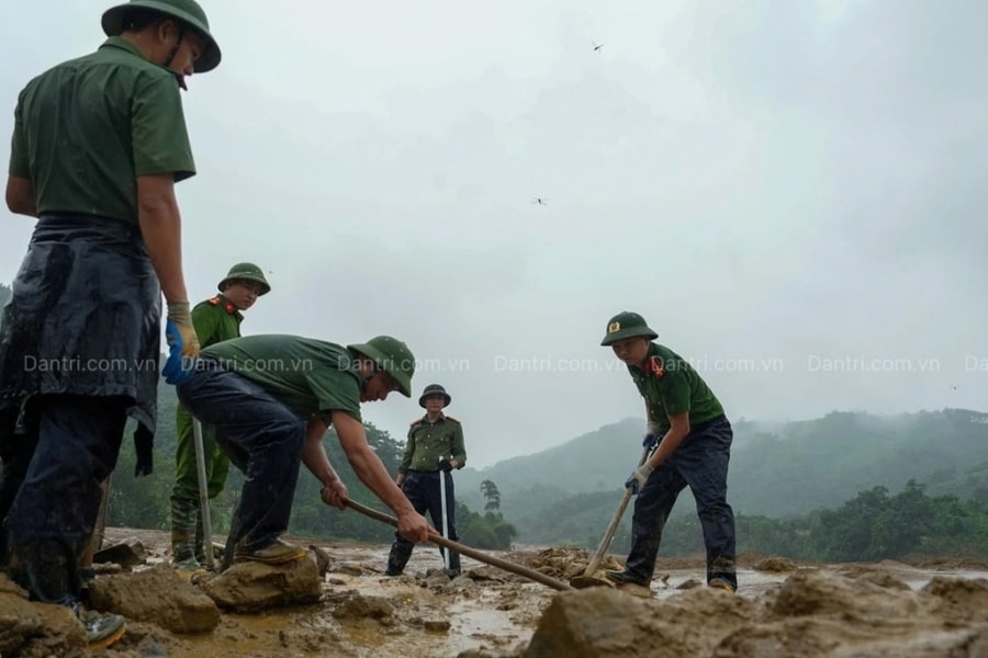
<svg viewBox="0 0 988 658"><path fill-rule="evenodd" d="M142 193L138 181L137 218L141 235L165 298L168 302L188 302L189 294L186 292L182 273L182 219L173 190L161 188L156 183L155 189Z"/></svg>

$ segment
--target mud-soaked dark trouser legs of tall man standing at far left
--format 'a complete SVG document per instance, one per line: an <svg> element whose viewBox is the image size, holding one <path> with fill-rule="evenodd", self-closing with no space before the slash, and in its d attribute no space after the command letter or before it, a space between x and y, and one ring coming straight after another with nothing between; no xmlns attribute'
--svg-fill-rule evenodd
<svg viewBox="0 0 988 658"><path fill-rule="evenodd" d="M78 601L78 565L99 515L100 483L116 466L132 405L113 397L41 398L37 446L4 522L10 575L32 598Z"/></svg>

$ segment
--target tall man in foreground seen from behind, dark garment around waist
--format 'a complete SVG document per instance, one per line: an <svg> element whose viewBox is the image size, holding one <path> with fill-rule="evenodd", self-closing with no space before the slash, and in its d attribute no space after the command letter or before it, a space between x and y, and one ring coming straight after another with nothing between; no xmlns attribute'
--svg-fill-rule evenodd
<svg viewBox="0 0 988 658"><path fill-rule="evenodd" d="M155 427L162 293L168 378L187 376L182 356L199 352L175 197L195 172L180 88L220 64L194 0L132 0L102 27L96 53L21 91L5 191L12 213L37 219L0 329L10 574L33 598L76 610L126 418L143 436ZM117 615L86 626L92 646L123 633Z"/></svg>

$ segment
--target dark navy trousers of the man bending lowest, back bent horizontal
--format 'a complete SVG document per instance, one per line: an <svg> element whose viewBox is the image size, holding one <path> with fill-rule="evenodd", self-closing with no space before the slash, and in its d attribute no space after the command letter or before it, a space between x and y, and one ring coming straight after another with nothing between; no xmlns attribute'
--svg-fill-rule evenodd
<svg viewBox="0 0 988 658"><path fill-rule="evenodd" d="M236 548L259 551L288 530L305 442L305 421L246 377L200 360L199 370L176 387L182 402L244 474L223 567Z"/></svg>

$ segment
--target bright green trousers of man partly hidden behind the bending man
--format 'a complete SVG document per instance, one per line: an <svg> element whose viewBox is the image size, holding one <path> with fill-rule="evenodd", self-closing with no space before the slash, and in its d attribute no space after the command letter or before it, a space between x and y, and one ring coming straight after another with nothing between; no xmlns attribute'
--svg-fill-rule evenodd
<svg viewBox="0 0 988 658"><path fill-rule="evenodd" d="M175 487L171 489L171 554L177 563L194 558L203 564L205 551L192 415L179 405L175 416L178 441L175 450ZM210 500L223 491L229 473L229 460L223 454L214 434L210 426L202 427L203 461Z"/></svg>

